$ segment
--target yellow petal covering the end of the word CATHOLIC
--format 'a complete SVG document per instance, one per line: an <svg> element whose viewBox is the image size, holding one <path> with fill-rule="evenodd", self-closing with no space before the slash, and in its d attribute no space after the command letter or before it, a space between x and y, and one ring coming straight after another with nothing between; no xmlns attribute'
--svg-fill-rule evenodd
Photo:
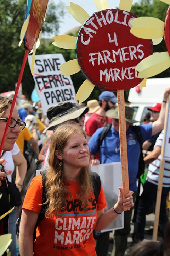
<svg viewBox="0 0 170 256"><path fill-rule="evenodd" d="M130 21L131 34L143 39L157 39L164 36L165 23L158 18L139 17Z"/></svg>

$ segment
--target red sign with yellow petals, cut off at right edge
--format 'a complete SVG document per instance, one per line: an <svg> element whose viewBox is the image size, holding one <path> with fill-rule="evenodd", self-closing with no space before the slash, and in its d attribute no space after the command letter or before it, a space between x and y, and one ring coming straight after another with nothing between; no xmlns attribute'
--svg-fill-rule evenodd
<svg viewBox="0 0 170 256"><path fill-rule="evenodd" d="M160 0L170 4L170 0ZM143 59L137 66L138 78L148 78L157 75L170 67L170 7L166 13L165 22L153 17L140 17L130 22L130 32L138 37L154 39L160 43L164 37L167 52L154 53Z"/></svg>

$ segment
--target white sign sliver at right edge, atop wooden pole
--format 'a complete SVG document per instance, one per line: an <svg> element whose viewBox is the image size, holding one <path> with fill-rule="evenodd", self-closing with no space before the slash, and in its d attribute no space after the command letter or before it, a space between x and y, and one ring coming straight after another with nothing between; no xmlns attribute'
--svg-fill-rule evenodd
<svg viewBox="0 0 170 256"><path fill-rule="evenodd" d="M166 133L165 133L165 141L164 141L164 154L163 159L170 159L170 98L168 103L168 112L167 112L167 122L166 122Z"/></svg>

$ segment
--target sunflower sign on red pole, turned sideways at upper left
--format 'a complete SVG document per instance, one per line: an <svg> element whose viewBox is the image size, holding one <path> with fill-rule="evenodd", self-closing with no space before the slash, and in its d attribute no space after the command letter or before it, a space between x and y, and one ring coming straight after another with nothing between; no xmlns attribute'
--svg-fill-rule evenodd
<svg viewBox="0 0 170 256"><path fill-rule="evenodd" d="M32 49L33 49L32 74L34 72L33 69L34 69L35 49L39 44L38 37L45 19L47 4L48 4L48 0L28 0L27 1L26 17L25 17L25 22L21 29L21 34L20 34L21 41L19 42L19 46L21 46L22 41L24 42L24 48L26 49L26 51L24 54L21 71L19 73L19 78L18 78L15 94L13 97L10 114L8 116L8 120L7 120L4 134L2 137L2 142L0 145L0 155L2 152L2 147L4 144L8 125L12 116L13 108L16 102L19 86L21 84L24 68L27 61L27 56L28 56L29 50L32 50Z"/></svg>

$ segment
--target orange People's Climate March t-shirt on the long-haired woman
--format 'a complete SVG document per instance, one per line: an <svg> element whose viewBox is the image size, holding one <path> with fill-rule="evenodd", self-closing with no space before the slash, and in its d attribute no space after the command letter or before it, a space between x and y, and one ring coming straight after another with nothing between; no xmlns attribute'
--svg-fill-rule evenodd
<svg viewBox="0 0 170 256"><path fill-rule="evenodd" d="M96 256L93 230L97 220L97 210L106 207L101 185L97 205L94 194L88 199L86 210L81 208L77 197L79 185L69 182L73 198L66 198L66 208L51 218L39 222L34 242L34 256ZM40 213L42 204L42 176L33 178L22 208ZM76 214L77 212L77 214ZM76 216L77 215L77 216Z"/></svg>

